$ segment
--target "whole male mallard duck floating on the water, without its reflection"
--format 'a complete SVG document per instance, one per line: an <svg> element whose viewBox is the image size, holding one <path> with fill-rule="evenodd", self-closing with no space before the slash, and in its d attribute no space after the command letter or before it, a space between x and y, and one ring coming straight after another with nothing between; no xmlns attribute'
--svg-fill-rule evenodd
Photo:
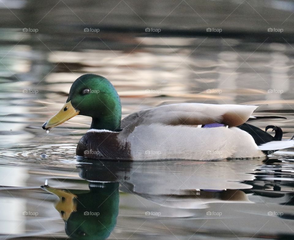
<svg viewBox="0 0 294 240"><path fill-rule="evenodd" d="M158 160L264 157L294 146L245 123L255 105L179 103L132 113L123 120L120 98L103 76L76 79L62 109L43 124L49 130L80 114L92 117L76 154L97 159ZM268 152L269 151L269 152Z"/></svg>

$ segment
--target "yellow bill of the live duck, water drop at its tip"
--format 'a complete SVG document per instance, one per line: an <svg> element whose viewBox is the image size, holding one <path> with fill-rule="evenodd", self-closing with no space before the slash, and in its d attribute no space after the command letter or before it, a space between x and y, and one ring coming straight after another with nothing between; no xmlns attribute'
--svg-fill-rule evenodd
<svg viewBox="0 0 294 240"><path fill-rule="evenodd" d="M62 124L70 118L78 115L79 113L80 111L74 109L73 105L71 105L71 102L69 101L63 105L62 109L58 113L45 122L42 127L45 130L56 127L59 124Z"/></svg>

